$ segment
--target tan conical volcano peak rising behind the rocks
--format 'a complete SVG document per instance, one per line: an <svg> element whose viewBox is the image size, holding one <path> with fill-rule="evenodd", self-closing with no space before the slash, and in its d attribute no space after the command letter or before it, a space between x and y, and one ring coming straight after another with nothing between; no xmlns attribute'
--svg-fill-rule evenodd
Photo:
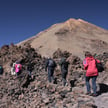
<svg viewBox="0 0 108 108"><path fill-rule="evenodd" d="M30 43L43 56L52 55L58 48L83 57L84 51L103 53L108 49L108 30L82 19L69 19L52 25L19 45Z"/></svg>

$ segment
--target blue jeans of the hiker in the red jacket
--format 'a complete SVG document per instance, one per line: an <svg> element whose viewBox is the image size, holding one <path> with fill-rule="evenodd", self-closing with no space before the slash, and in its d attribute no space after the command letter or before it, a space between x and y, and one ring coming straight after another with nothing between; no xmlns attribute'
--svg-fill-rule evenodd
<svg viewBox="0 0 108 108"><path fill-rule="evenodd" d="M91 86L90 86L90 79L92 79L92 88L93 88L93 93L96 94L96 79L97 76L86 76L85 81L86 81L86 88L87 88L87 92L91 93Z"/></svg>

